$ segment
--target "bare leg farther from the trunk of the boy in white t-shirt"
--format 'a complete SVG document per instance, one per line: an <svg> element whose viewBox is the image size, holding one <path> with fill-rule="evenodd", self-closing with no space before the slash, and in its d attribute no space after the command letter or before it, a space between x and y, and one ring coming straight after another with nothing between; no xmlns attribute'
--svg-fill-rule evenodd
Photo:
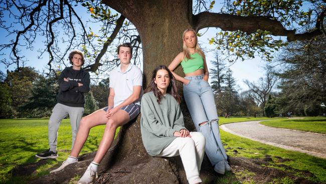
<svg viewBox="0 0 326 184"><path fill-rule="evenodd" d="M80 150L83 148L88 134L89 130L92 127L95 127L97 125L104 125L108 122L108 119L105 117L105 111L102 109L95 111L94 113L85 116L80 121L79 130L76 136L74 147L71 150L70 156L78 157Z"/></svg>

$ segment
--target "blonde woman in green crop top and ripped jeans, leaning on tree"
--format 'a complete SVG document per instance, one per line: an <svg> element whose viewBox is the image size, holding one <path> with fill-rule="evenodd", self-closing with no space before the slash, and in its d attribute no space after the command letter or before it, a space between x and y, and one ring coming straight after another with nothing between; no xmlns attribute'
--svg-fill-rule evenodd
<svg viewBox="0 0 326 184"><path fill-rule="evenodd" d="M198 132L206 138L205 151L214 170L224 174L231 167L223 147L213 90L208 83L209 72L205 54L198 45L196 31L187 29L183 34L183 52L169 65L171 71L179 64L185 77L173 72L175 78L184 83L184 97Z"/></svg>

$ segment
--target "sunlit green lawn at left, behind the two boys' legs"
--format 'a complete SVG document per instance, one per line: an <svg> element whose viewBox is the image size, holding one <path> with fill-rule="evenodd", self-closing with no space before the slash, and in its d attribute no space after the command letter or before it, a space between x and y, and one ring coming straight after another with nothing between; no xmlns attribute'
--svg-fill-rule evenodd
<svg viewBox="0 0 326 184"><path fill-rule="evenodd" d="M22 183L25 180L12 177L9 171L17 165L36 162L38 158L35 154L49 148L48 121L49 119L0 120L0 183ZM91 129L81 154L97 150L104 127L101 125ZM58 161L64 161L70 153L71 141L70 122L69 119L64 119L58 131L57 161L49 159L48 164L43 165L36 175L30 177L47 174L45 170L58 164Z"/></svg>

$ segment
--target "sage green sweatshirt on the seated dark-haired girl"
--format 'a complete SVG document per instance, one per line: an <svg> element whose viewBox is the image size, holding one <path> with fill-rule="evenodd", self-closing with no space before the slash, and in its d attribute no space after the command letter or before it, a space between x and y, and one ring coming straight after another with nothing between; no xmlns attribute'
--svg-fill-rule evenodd
<svg viewBox="0 0 326 184"><path fill-rule="evenodd" d="M167 94L157 103L153 91L141 98L141 138L147 153L158 155L175 140L174 132L186 129L184 116L176 99Z"/></svg>

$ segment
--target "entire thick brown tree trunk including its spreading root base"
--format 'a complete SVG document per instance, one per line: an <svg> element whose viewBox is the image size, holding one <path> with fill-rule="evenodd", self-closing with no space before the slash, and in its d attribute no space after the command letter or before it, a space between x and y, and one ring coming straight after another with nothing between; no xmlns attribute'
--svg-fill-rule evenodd
<svg viewBox="0 0 326 184"><path fill-rule="evenodd" d="M103 1L137 28L143 51L144 86L150 82L152 70L170 62L182 51L182 34L192 28L192 2L189 1ZM141 11L140 11L141 10ZM176 19L176 17L178 17ZM183 75L181 67L176 72ZM182 84L178 84L182 94ZM194 130L187 107L183 102L186 127ZM187 183L180 157L151 157L145 151L140 134L140 116L136 121L124 125L112 147L101 162L99 173L105 173L97 182L105 183ZM35 181L68 182L75 174L82 175L94 153L87 155L77 164L67 166L63 171L53 173ZM65 172L65 176L62 176ZM207 181L216 180L212 166L205 158L201 171Z"/></svg>

